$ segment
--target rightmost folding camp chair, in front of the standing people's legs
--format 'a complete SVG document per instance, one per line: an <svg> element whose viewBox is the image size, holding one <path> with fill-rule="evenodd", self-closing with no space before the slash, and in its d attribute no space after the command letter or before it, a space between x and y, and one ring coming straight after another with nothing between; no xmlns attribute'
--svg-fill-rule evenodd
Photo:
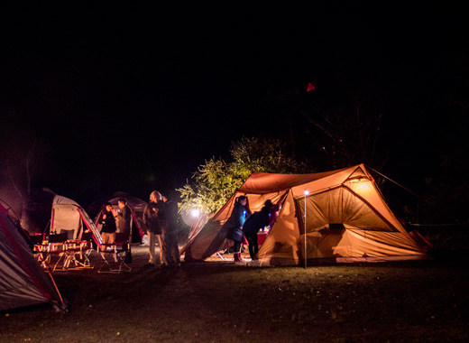
<svg viewBox="0 0 469 343"><path fill-rule="evenodd" d="M125 262L126 257L131 254L129 233L115 234L115 243L102 244L99 250L103 254L103 264L97 273L121 273L132 270ZM111 256L113 260L110 260Z"/></svg>

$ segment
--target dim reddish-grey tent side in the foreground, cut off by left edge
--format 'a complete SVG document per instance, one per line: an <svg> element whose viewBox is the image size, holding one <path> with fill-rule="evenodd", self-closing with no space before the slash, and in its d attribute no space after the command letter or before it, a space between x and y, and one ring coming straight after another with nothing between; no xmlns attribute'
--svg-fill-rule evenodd
<svg viewBox="0 0 469 343"><path fill-rule="evenodd" d="M0 311L44 302L65 309L59 292L0 204Z"/></svg>

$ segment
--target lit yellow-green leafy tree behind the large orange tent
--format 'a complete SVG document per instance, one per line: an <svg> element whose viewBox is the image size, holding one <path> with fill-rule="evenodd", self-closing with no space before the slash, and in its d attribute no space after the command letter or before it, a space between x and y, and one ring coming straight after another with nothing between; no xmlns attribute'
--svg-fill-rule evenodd
<svg viewBox="0 0 469 343"><path fill-rule="evenodd" d="M193 184L181 189L179 212L192 209L210 214L220 209L253 172L307 172L307 163L300 163L287 153L287 145L278 139L260 137L235 142L230 148L230 160L212 157L198 167ZM309 171L311 172L311 171Z"/></svg>

